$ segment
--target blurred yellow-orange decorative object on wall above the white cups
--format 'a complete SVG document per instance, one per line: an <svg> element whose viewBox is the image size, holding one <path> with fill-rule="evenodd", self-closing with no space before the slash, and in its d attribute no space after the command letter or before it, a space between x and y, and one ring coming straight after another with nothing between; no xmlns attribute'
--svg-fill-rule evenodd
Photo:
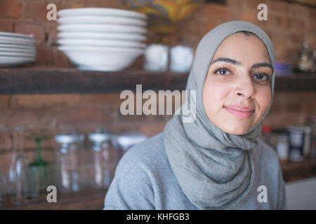
<svg viewBox="0 0 316 224"><path fill-rule="evenodd" d="M202 0L123 0L125 5L148 16L151 31L172 34L202 3Z"/></svg>

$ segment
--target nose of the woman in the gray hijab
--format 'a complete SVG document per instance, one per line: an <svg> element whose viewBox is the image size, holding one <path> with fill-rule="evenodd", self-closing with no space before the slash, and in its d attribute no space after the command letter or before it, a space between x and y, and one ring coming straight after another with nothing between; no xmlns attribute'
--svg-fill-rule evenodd
<svg viewBox="0 0 316 224"><path fill-rule="evenodd" d="M237 80L237 85L235 87L235 95L237 97L244 97L246 99L254 96L254 82L251 80L249 75L242 76Z"/></svg>

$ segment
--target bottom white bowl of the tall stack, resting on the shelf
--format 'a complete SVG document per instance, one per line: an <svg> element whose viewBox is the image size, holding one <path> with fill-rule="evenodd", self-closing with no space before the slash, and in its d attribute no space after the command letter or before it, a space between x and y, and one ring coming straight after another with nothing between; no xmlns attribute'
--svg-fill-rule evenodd
<svg viewBox="0 0 316 224"><path fill-rule="evenodd" d="M67 55L79 69L98 71L121 71L130 66L144 50L140 48L111 48L59 46L58 50Z"/></svg>

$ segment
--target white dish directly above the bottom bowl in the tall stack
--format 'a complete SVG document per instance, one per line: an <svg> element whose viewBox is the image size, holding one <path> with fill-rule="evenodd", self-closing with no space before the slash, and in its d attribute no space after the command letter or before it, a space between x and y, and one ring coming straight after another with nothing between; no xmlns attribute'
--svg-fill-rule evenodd
<svg viewBox="0 0 316 224"><path fill-rule="evenodd" d="M62 38L57 41L60 45L86 45L86 46L109 46L109 47L130 47L145 48L145 43L136 41L117 41L117 40L93 40L93 39L74 39Z"/></svg>

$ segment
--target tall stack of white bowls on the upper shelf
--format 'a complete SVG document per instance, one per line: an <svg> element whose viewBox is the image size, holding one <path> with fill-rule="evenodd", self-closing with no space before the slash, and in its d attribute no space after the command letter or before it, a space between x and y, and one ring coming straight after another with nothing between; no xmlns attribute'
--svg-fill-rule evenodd
<svg viewBox="0 0 316 224"><path fill-rule="evenodd" d="M81 70L121 71L145 52L147 15L117 8L58 11L58 50Z"/></svg>

